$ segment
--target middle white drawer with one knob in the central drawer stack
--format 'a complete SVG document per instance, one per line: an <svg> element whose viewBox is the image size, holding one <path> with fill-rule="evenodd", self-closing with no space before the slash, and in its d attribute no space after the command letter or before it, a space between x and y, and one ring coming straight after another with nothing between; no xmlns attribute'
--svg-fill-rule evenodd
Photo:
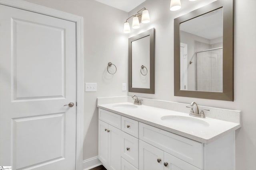
<svg viewBox="0 0 256 170"><path fill-rule="evenodd" d="M138 168L138 139L125 132L122 132L121 146L121 156L130 162L133 166Z"/></svg>

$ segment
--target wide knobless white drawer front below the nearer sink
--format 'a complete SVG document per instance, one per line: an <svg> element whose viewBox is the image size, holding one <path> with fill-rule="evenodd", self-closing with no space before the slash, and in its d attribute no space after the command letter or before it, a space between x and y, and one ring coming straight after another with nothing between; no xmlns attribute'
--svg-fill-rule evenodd
<svg viewBox="0 0 256 170"><path fill-rule="evenodd" d="M139 139L202 169L202 143L144 123L139 123Z"/></svg>

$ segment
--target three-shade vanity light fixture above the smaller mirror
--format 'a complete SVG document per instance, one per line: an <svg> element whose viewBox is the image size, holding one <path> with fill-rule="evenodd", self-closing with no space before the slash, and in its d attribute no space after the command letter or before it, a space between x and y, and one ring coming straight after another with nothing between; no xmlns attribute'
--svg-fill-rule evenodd
<svg viewBox="0 0 256 170"><path fill-rule="evenodd" d="M124 23L124 33L130 33L130 23L128 20L132 18L132 28L133 29L138 29L140 27L140 22L142 23L149 23L150 22L150 17L148 10L146 8L142 8L139 10L135 15L130 16L127 18L126 22Z"/></svg>

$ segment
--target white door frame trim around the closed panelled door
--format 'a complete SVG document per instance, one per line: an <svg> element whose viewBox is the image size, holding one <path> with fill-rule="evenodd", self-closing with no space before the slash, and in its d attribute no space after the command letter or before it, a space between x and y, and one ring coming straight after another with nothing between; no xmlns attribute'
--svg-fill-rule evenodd
<svg viewBox="0 0 256 170"><path fill-rule="evenodd" d="M76 170L83 169L83 113L84 113L84 66L83 66L83 17L54 10L22 0L0 0L0 4L20 8L76 23Z"/></svg>

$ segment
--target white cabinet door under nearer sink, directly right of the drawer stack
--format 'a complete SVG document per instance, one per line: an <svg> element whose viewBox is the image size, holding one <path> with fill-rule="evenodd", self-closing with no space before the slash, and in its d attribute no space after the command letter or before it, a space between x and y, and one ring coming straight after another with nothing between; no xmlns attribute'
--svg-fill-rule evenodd
<svg viewBox="0 0 256 170"><path fill-rule="evenodd" d="M139 169L164 170L164 151L139 140Z"/></svg>

